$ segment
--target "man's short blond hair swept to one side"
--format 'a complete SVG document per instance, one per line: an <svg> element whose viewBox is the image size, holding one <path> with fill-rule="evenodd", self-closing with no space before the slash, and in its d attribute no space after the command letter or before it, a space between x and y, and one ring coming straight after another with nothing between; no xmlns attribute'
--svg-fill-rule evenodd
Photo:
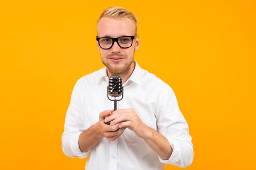
<svg viewBox="0 0 256 170"><path fill-rule="evenodd" d="M137 34L138 18L134 15L134 13L130 12L128 9L125 9L125 8L122 8L122 7L110 7L110 8L105 9L101 13L101 16L99 17L99 20L97 21L97 29L98 29L99 21L103 17L109 17L109 18L129 18L135 24L135 32Z"/></svg>

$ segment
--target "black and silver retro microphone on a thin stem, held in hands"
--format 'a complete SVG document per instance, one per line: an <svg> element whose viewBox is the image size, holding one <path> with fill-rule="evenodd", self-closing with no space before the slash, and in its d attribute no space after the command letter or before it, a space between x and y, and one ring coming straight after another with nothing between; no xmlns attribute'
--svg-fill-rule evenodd
<svg viewBox="0 0 256 170"><path fill-rule="evenodd" d="M117 101L120 101L124 97L124 86L122 83L122 78L118 75L111 75L108 79L108 87L107 87L107 96L110 95L111 97L115 97L114 100L110 99L109 100L114 101L114 110L117 110ZM116 97L119 97L122 95L121 99L116 99ZM105 124L110 124L110 121L105 123Z"/></svg>

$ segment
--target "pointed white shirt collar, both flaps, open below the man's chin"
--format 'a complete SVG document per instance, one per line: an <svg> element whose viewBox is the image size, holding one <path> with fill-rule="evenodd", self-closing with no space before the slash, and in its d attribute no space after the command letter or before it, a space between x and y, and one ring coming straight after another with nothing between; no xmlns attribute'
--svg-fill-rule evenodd
<svg viewBox="0 0 256 170"><path fill-rule="evenodd" d="M134 62L135 62L135 68L134 68L132 74L130 75L130 77L125 82L125 84L131 80L132 82L143 85L143 82L142 82L143 69L139 66L139 64L136 62L136 60L134 60ZM105 77L105 79L108 81L106 66L99 71L99 77L98 77L98 79L96 79L96 81L101 79L102 77Z"/></svg>

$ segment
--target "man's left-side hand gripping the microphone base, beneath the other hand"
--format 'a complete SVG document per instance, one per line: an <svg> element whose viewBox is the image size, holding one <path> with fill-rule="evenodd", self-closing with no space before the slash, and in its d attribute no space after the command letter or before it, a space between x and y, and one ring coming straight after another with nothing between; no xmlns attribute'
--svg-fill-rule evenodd
<svg viewBox="0 0 256 170"><path fill-rule="evenodd" d="M114 110L105 110L103 112L101 112L99 114L99 122L98 122L98 126L97 126L97 131L99 132L99 134L103 137L105 137L106 139L108 139L108 141L115 141L120 135L122 135L122 133L124 132L124 130L126 129L126 127L124 128L119 128L119 124L115 124L114 126L112 125L108 125L104 123L105 117L109 116L110 113L112 115L112 112ZM108 122L108 121L105 121Z"/></svg>

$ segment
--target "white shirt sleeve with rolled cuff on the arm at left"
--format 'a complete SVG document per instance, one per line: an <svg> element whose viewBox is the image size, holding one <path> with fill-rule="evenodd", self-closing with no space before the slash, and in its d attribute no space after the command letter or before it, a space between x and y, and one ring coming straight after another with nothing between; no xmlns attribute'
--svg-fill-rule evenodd
<svg viewBox="0 0 256 170"><path fill-rule="evenodd" d="M61 141L62 150L65 155L68 157L85 158L88 152L81 152L78 143L79 135L85 130L79 91L81 91L81 86L79 81L77 81L72 91L70 105L67 109Z"/></svg>

